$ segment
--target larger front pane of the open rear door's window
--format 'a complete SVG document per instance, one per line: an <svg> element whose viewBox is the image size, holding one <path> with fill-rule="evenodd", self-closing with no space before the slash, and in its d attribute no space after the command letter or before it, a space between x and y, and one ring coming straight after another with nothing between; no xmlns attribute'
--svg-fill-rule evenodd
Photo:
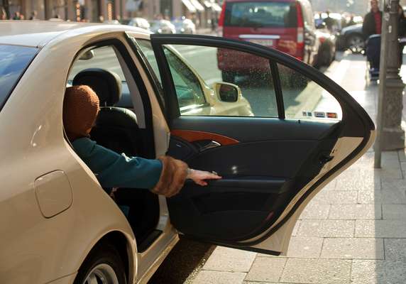
<svg viewBox="0 0 406 284"><path fill-rule="evenodd" d="M278 117L268 59L197 45L165 45L164 49L175 84L182 80L187 96L201 102L204 97L207 102L182 109L185 104L177 89L182 115ZM227 87L221 87L224 84Z"/></svg>

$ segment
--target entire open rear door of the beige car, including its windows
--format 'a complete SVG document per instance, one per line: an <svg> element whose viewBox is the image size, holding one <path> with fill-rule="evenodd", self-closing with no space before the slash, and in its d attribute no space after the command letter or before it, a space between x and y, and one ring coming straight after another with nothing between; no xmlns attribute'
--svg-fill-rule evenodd
<svg viewBox="0 0 406 284"><path fill-rule="evenodd" d="M370 117L338 84L277 50L202 35L150 38L165 92L168 155L222 176L207 187L187 181L167 200L173 226L213 244L285 253L306 204L371 146ZM212 86L212 97L251 115L183 113L173 49ZM236 74L230 82L222 82L223 65Z"/></svg>

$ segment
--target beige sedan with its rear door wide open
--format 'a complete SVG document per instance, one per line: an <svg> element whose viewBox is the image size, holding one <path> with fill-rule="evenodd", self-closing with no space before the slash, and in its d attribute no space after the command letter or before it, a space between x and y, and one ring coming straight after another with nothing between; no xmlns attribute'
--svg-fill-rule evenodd
<svg viewBox="0 0 406 284"><path fill-rule="evenodd" d="M268 62L270 73L221 82L218 49L244 54L241 65ZM285 86L278 68L305 89ZM187 181L168 199L125 188L112 198L64 134L71 84L100 98L91 135L101 145L167 153L223 178ZM178 234L283 255L308 202L375 136L344 89L277 50L43 21L0 22L0 133L0 283L30 284L147 283Z"/></svg>

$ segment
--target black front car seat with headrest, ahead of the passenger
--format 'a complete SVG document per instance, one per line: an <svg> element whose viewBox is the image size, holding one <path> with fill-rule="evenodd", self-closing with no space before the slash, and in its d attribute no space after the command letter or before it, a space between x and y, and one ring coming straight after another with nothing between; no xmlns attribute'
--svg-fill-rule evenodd
<svg viewBox="0 0 406 284"><path fill-rule="evenodd" d="M116 73L89 68L79 72L73 85L85 84L96 92L100 111L91 138L101 146L128 156L140 155L137 117L133 111L114 107L121 98L121 79Z"/></svg>

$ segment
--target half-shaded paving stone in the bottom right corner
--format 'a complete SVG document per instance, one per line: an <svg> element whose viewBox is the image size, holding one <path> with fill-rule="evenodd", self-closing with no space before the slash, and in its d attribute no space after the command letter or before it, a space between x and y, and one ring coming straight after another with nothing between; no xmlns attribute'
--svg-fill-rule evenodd
<svg viewBox="0 0 406 284"><path fill-rule="evenodd" d="M351 269L351 283L405 284L405 261L361 261L354 260Z"/></svg>

